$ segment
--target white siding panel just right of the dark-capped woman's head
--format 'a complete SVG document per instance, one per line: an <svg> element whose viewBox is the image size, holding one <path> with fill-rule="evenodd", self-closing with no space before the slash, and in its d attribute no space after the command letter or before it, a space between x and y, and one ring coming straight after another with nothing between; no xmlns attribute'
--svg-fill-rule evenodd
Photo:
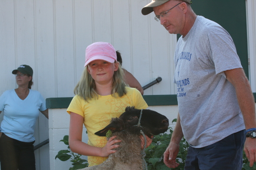
<svg viewBox="0 0 256 170"><path fill-rule="evenodd" d="M55 93L53 0L36 0L36 65L37 87L46 99Z"/></svg>

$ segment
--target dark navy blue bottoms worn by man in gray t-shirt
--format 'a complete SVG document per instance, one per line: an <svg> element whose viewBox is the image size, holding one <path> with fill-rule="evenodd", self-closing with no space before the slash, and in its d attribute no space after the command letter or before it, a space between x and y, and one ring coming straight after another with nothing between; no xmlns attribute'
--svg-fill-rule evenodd
<svg viewBox="0 0 256 170"><path fill-rule="evenodd" d="M184 170L241 170L245 131L203 148L189 147Z"/></svg>

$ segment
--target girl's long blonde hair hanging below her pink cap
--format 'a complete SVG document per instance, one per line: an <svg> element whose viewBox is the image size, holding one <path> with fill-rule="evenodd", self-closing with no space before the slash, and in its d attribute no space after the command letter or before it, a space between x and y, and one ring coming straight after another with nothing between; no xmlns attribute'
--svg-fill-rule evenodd
<svg viewBox="0 0 256 170"><path fill-rule="evenodd" d="M116 62L116 61L115 61ZM111 94L115 98L124 96L126 94L125 87L127 86L123 80L124 71L121 68L121 64L118 63L118 70L114 72L113 75L113 83ZM89 100L96 98L98 99L98 94L95 91L95 80L93 80L91 74L88 72L88 65L85 67L82 76L75 86L74 93L75 95L81 96L85 101L89 102ZM116 93L118 95L116 95Z"/></svg>

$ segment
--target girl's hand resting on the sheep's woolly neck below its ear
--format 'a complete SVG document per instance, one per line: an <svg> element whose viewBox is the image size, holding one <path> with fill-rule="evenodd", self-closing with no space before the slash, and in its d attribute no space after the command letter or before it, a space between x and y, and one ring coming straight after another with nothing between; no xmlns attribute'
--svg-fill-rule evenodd
<svg viewBox="0 0 256 170"><path fill-rule="evenodd" d="M112 150L119 147L119 144L115 144L118 142L121 142L121 140L114 140L116 136L112 136L108 139L107 144L102 148L102 154L101 157L108 157L110 154L113 154L116 152L116 150Z"/></svg>

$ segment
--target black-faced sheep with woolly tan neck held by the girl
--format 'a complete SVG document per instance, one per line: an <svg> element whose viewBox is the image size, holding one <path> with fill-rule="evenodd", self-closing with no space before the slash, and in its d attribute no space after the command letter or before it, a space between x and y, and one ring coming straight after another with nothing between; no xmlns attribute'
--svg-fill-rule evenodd
<svg viewBox="0 0 256 170"><path fill-rule="evenodd" d="M117 136L116 139L121 140L120 146L116 148L117 151L110 154L102 164L80 170L143 170L147 165L141 154L140 131L150 137L166 132L168 126L168 119L158 112L127 107L119 118L112 118L109 125L95 133L98 136L106 136L108 130L111 130L112 134Z"/></svg>

